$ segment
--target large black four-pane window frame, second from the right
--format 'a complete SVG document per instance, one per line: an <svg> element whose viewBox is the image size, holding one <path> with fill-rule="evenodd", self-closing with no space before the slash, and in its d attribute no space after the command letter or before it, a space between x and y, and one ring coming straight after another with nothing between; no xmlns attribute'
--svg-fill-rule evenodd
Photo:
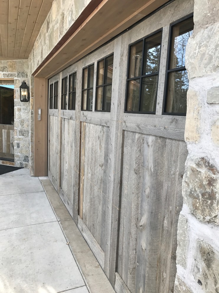
<svg viewBox="0 0 219 293"><path fill-rule="evenodd" d="M159 62L158 62L158 71L156 73L150 73L150 74L146 74L146 75L140 75L140 76L136 76L134 78L128 78L129 76L129 61L130 61L130 54L131 54L131 46L133 46L134 44L137 44L140 41L143 41L143 49L142 49L142 60L141 60L141 73L144 70L144 60L145 60L145 40L147 38L150 38L151 36L155 35L156 33L161 32L161 44L160 44L160 57L159 57ZM126 73L126 86L125 86L125 106L124 106L124 113L132 113L132 114L151 114L151 115L156 115L156 108L155 111L126 111L126 106L127 106L127 102L128 102L128 82L130 80L135 80L135 79L140 79L140 93L139 93L139 104L138 104L138 109L140 109L140 105L141 105L141 95L142 95L142 79L145 77L150 77L150 76L155 76L157 75L157 89L156 92L158 91L158 81L159 81L159 71L160 71L160 61L161 61L161 47L162 47L162 37L163 37L163 28L160 28L156 31L154 31L153 33L150 33L149 35L138 39L137 41L131 43L128 45L128 63L127 63L127 73ZM157 94L156 94L156 101L157 101Z"/></svg>

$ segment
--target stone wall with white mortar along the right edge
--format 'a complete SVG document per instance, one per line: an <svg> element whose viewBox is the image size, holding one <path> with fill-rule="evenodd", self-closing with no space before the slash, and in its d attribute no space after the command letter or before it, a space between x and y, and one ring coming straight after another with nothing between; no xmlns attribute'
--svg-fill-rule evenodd
<svg viewBox="0 0 219 293"><path fill-rule="evenodd" d="M219 292L219 5L195 0L175 293Z"/></svg>

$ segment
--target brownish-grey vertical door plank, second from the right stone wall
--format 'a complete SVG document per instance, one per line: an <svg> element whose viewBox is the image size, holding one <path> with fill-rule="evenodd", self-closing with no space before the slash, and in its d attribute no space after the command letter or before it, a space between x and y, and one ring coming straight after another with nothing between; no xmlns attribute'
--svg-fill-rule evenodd
<svg viewBox="0 0 219 293"><path fill-rule="evenodd" d="M161 231L157 262L156 293L169 291L173 226L176 208L180 141L167 139L162 191Z"/></svg>

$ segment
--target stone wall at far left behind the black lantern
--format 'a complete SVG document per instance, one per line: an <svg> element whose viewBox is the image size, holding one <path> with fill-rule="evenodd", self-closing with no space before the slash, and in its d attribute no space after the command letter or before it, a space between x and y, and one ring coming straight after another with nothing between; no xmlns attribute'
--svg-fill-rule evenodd
<svg viewBox="0 0 219 293"><path fill-rule="evenodd" d="M0 60L0 78L14 78L14 163L29 168L30 103L20 102L22 81L29 84L28 60Z"/></svg>

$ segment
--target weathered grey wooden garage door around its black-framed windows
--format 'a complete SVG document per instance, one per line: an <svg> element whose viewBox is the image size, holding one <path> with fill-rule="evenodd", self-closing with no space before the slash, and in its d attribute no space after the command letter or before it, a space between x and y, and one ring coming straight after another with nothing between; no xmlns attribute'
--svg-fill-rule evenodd
<svg viewBox="0 0 219 293"><path fill-rule="evenodd" d="M193 9L185 0L177 15L179 4L170 4L174 16L165 7L49 81L59 84L58 109L49 110L48 176L118 293L173 292L187 148L185 116L162 115L162 105L169 23ZM156 115L124 113L128 45L161 23ZM111 110L97 112L97 61L113 53ZM92 111L82 111L82 73L91 64ZM61 110L61 81L72 73L75 110Z"/></svg>

